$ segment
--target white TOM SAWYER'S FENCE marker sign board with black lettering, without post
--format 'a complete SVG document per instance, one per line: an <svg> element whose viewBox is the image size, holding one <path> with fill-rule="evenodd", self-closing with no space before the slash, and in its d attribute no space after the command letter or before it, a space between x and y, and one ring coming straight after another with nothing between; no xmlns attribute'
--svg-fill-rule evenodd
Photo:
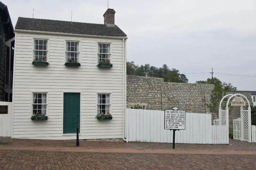
<svg viewBox="0 0 256 170"><path fill-rule="evenodd" d="M185 129L186 111L173 107L172 110L164 110L164 129Z"/></svg>

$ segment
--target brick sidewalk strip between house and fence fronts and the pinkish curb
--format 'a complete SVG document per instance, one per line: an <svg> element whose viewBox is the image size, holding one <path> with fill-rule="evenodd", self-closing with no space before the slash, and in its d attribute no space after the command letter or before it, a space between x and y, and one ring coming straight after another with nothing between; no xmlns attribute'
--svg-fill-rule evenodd
<svg viewBox="0 0 256 170"><path fill-rule="evenodd" d="M38 139L1 139L8 141L0 146L19 147L76 147L75 140L38 140ZM209 151L256 151L256 143L229 139L230 144L183 144L176 143L180 150L209 150ZM98 142L80 140L79 148L123 148L123 149L172 149L172 143L146 142Z"/></svg>

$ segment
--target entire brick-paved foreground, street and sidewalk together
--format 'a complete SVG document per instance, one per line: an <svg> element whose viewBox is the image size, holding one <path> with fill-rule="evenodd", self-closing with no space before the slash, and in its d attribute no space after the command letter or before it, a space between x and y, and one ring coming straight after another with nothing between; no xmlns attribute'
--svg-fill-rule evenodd
<svg viewBox="0 0 256 170"><path fill-rule="evenodd" d="M175 144L0 137L0 169L256 169L256 143ZM231 144L232 143L232 144Z"/></svg>

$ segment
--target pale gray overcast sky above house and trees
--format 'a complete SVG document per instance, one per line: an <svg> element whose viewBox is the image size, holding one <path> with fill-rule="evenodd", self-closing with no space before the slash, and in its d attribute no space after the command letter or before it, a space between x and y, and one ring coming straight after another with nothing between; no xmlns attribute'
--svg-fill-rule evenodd
<svg viewBox="0 0 256 170"><path fill-rule="evenodd" d="M104 23L108 0L1 0L18 17ZM213 76L256 91L256 0L109 0L126 35L127 60L167 64L189 82ZM200 73L200 74L192 74ZM220 74L224 73L224 74ZM234 76L236 74L246 76Z"/></svg>

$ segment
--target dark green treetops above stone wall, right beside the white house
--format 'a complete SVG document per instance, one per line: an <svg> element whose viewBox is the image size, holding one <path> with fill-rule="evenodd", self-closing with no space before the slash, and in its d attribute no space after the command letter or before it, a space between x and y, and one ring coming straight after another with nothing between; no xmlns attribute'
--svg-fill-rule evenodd
<svg viewBox="0 0 256 170"><path fill-rule="evenodd" d="M126 63L127 75L138 75L138 76L147 76L147 77L159 77L163 78L167 82L188 82L188 78L185 74L181 74L179 70L169 67L164 64L162 67L150 66L145 64L144 66L138 66L134 61Z"/></svg>

